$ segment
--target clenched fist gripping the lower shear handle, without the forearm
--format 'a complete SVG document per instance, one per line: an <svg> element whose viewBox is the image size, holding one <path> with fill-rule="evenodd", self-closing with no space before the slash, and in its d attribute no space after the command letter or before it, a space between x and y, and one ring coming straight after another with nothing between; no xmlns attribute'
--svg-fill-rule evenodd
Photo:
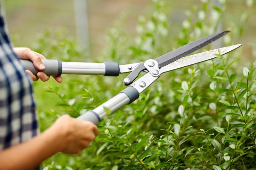
<svg viewBox="0 0 256 170"><path fill-rule="evenodd" d="M60 151L68 154L82 152L99 133L97 126L92 122L78 120L69 115L57 119L49 131L58 134L56 142L60 143Z"/></svg>

